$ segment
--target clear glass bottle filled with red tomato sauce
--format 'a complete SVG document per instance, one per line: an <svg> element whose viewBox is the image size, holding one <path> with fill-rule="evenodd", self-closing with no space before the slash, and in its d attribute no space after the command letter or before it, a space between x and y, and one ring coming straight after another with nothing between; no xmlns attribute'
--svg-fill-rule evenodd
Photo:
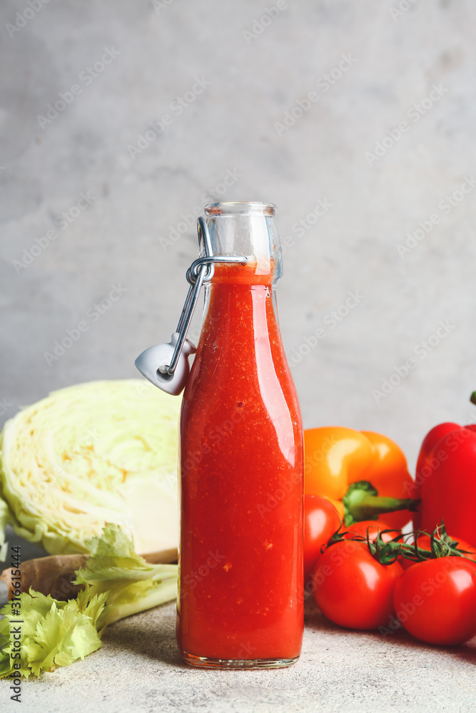
<svg viewBox="0 0 476 713"><path fill-rule="evenodd" d="M215 265L181 411L177 640L191 665L281 667L303 637L303 429L278 326L275 207L205 209Z"/></svg>

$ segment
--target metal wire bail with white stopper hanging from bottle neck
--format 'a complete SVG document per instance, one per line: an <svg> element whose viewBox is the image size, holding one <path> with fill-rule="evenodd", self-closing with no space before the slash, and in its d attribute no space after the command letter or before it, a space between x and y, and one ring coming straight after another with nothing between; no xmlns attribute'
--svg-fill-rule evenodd
<svg viewBox="0 0 476 713"><path fill-rule="evenodd" d="M198 218L197 230L198 243L202 245L203 242L205 257L199 257L198 260L192 262L187 270L190 287L177 329L173 332L168 344L156 344L154 347L148 347L145 352L139 354L135 362L138 370L146 379L173 396L178 396L185 388L190 373L188 356L196 352L195 345L186 337L203 282L208 282L213 277L215 262L240 262L241 265L248 262L246 257L240 255L219 257L213 255L208 227L203 217Z"/></svg>

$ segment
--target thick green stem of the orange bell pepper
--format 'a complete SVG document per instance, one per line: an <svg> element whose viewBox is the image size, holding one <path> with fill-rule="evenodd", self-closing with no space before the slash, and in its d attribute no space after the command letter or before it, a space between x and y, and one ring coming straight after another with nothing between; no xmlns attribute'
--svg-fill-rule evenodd
<svg viewBox="0 0 476 713"><path fill-rule="evenodd" d="M381 513L395 513L397 510L415 511L420 504L412 498L383 498L368 481L352 483L343 497L346 526L360 520L375 520Z"/></svg>

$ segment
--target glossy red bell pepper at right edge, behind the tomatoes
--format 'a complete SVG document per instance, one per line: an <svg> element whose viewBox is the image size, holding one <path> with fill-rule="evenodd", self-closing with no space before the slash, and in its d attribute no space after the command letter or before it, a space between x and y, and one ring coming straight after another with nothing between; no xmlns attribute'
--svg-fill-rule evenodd
<svg viewBox="0 0 476 713"><path fill-rule="evenodd" d="M476 392L471 401L476 403ZM440 424L422 443L415 491L421 498L415 530L431 533L443 521L448 532L476 546L476 425Z"/></svg>

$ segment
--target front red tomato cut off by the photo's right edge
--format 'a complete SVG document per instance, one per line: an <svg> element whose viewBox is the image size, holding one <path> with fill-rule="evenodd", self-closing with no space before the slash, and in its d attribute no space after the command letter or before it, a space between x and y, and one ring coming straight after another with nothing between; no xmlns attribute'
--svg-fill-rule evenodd
<svg viewBox="0 0 476 713"><path fill-rule="evenodd" d="M419 562L395 584L393 602L407 632L428 644L462 644L476 634L475 565L462 557Z"/></svg>

